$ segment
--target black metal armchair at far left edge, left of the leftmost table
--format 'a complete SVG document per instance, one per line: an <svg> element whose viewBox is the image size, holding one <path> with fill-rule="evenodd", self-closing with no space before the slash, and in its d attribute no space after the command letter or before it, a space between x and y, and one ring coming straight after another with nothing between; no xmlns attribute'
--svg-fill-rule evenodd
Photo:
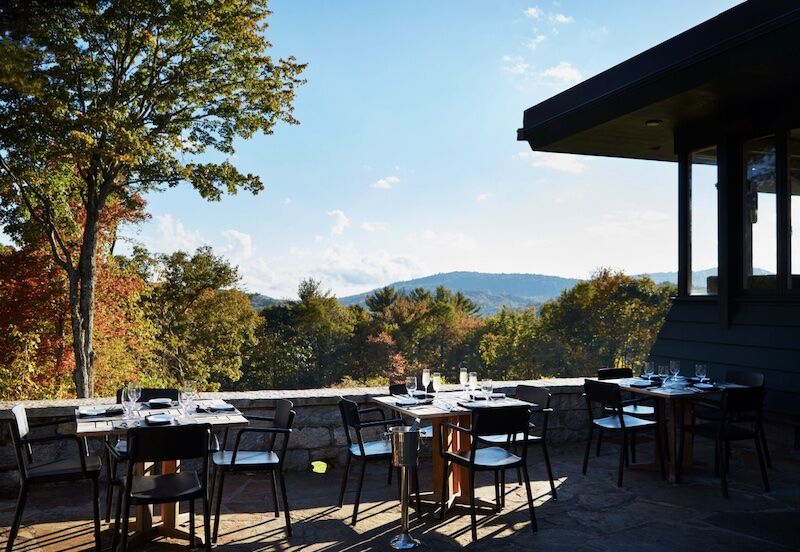
<svg viewBox="0 0 800 552"><path fill-rule="evenodd" d="M28 489L35 485L46 485L61 481L81 481L89 479L92 482L92 506L94 515L94 543L95 550L102 550L100 543L100 496L98 480L102 469L102 462L96 455L88 454L86 441L77 435L52 435L49 437L31 437L31 429L38 429L48 426L73 421L72 418L52 420L29 424L25 413L25 407L17 405L11 409L14 420L11 421L11 438L14 442L14 453L17 457L19 466L19 497L17 507L14 510L14 520L8 533L6 551L11 552L14 548L14 540L17 538L19 527L22 522L22 512L25 509L25 502L28 499ZM64 460L47 459L35 461L32 445L50 443L54 441L75 441L78 447L77 456Z"/></svg>

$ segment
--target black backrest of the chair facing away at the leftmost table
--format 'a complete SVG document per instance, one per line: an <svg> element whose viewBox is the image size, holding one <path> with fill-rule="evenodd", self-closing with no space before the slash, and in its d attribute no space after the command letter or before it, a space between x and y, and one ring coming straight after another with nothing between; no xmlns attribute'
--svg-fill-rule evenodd
<svg viewBox="0 0 800 552"><path fill-rule="evenodd" d="M210 424L137 427L128 431L130 463L208 458Z"/></svg>

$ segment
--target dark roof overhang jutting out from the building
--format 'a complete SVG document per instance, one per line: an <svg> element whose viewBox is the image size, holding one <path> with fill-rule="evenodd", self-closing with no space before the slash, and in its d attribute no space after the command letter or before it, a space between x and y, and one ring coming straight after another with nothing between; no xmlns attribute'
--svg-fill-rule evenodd
<svg viewBox="0 0 800 552"><path fill-rule="evenodd" d="M517 139L535 151L675 161L676 135L796 107L798 90L800 3L750 0L526 109Z"/></svg>

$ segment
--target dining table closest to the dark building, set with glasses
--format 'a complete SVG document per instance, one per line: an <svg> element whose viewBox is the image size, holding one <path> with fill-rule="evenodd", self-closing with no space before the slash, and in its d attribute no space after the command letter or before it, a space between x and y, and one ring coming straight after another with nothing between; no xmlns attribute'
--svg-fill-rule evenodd
<svg viewBox="0 0 800 552"><path fill-rule="evenodd" d="M705 383L698 387L697 381L685 376L664 376L659 378L620 378L603 380L616 383L623 391L633 395L653 399L655 415L663 443L667 443L666 462L667 478L675 482L678 467L678 439L681 423L691 424L693 419L693 406L699 400L714 401L719 399L719 394L727 387L742 387L735 383ZM654 441L655 446L655 441ZM692 434L684 436L683 458L680 459L683 467L692 463L693 456ZM656 449L657 451L657 449ZM657 454L657 452L655 452ZM656 456L653 458L656 458ZM657 464L639 463L632 464L632 468L656 469Z"/></svg>

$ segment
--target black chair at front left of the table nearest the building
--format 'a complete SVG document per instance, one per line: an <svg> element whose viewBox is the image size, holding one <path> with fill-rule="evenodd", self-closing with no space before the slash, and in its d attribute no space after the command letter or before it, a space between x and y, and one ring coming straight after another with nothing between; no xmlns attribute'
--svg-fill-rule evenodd
<svg viewBox="0 0 800 552"><path fill-rule="evenodd" d="M639 431L654 430L656 456L658 456L657 461L661 469L661 478L666 479L664 444L661 440L658 422L625 414L622 393L616 383L587 379L584 380L583 388L586 393L586 406L589 413L589 436L586 440L586 454L583 457L583 474L586 475L586 469L589 465L589 452L592 448L592 435L595 428L603 431L619 432L622 435L622 445L619 451L619 472L617 475L618 487L622 486L622 471L628 452L628 435ZM599 406L600 415L598 417L595 417L594 414L595 405ZM609 408L611 409L610 411Z"/></svg>

